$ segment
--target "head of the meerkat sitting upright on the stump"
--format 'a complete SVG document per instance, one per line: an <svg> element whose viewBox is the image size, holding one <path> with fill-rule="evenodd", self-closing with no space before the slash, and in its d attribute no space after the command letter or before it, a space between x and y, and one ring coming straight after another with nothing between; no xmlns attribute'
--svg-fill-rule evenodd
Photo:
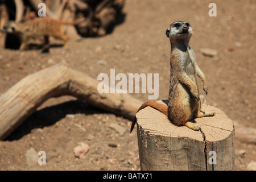
<svg viewBox="0 0 256 182"><path fill-rule="evenodd" d="M166 36L167 38L172 39L190 39L193 34L192 27L188 22L177 21L167 28Z"/></svg>

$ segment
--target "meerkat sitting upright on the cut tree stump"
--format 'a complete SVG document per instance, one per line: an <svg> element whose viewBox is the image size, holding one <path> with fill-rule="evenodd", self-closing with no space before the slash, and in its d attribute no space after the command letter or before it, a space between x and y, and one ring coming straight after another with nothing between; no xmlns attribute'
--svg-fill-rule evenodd
<svg viewBox="0 0 256 182"><path fill-rule="evenodd" d="M204 73L196 64L195 54L189 47L189 40L193 34L188 22L177 21L166 30L167 38L171 42L171 74L168 106L158 102L145 102L138 111L150 106L167 115L168 119L177 126L187 126L192 130L200 130L196 123L191 122L193 117L213 116L213 111L201 111L199 86L196 80L198 76L203 82L203 90L208 94L207 80ZM137 112L138 112L137 111ZM136 123L134 117L131 131Z"/></svg>

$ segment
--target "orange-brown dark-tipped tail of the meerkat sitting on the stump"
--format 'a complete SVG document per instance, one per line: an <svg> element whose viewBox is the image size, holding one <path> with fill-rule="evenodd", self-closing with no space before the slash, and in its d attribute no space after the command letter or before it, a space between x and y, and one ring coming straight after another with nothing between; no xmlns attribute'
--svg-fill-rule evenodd
<svg viewBox="0 0 256 182"><path fill-rule="evenodd" d="M147 106L150 106L150 107L160 111L161 113L165 114L166 116L168 115L168 107L166 105L160 104L160 103L155 102L155 101L145 102L144 104L141 105L141 107L139 107L138 111L144 109ZM137 113L138 113L138 111L137 111ZM131 133L131 131L133 131L135 123L136 123L136 116L134 116L133 123L131 124L130 133Z"/></svg>

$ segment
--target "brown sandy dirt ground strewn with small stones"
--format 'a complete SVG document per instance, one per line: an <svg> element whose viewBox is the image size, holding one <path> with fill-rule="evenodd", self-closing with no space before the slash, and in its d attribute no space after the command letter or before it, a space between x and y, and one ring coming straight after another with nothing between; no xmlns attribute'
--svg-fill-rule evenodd
<svg viewBox="0 0 256 182"><path fill-rule="evenodd" d="M64 62L95 79L100 73L109 75L111 68L116 74L159 73L158 100L167 99L170 42L165 31L170 23L187 20L194 31L191 47L208 80L207 104L220 108L234 122L255 128L256 1L216 0L216 17L208 15L211 2L126 1L123 22L106 36L69 40L67 50L56 46L49 53L36 48L1 49L0 93L31 73ZM201 48L218 53L204 56ZM148 94L133 96L148 100ZM126 133L120 136L110 123L118 123ZM129 133L130 125L128 119L74 97L51 98L0 142L0 170L139 170L137 133ZM81 159L73 154L79 142L90 147ZM31 147L46 152L46 165L27 164L26 152ZM235 137L235 150L236 170L246 170L247 164L256 162L255 143Z"/></svg>

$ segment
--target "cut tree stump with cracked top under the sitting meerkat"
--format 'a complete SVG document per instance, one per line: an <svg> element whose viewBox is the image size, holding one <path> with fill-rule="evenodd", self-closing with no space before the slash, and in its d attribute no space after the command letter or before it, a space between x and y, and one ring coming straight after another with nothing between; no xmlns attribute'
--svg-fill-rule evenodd
<svg viewBox="0 0 256 182"><path fill-rule="evenodd" d="M168 100L158 101L167 105ZM172 124L152 107L136 114L142 170L234 170L234 124L220 109L213 117L196 118L201 131Z"/></svg>

